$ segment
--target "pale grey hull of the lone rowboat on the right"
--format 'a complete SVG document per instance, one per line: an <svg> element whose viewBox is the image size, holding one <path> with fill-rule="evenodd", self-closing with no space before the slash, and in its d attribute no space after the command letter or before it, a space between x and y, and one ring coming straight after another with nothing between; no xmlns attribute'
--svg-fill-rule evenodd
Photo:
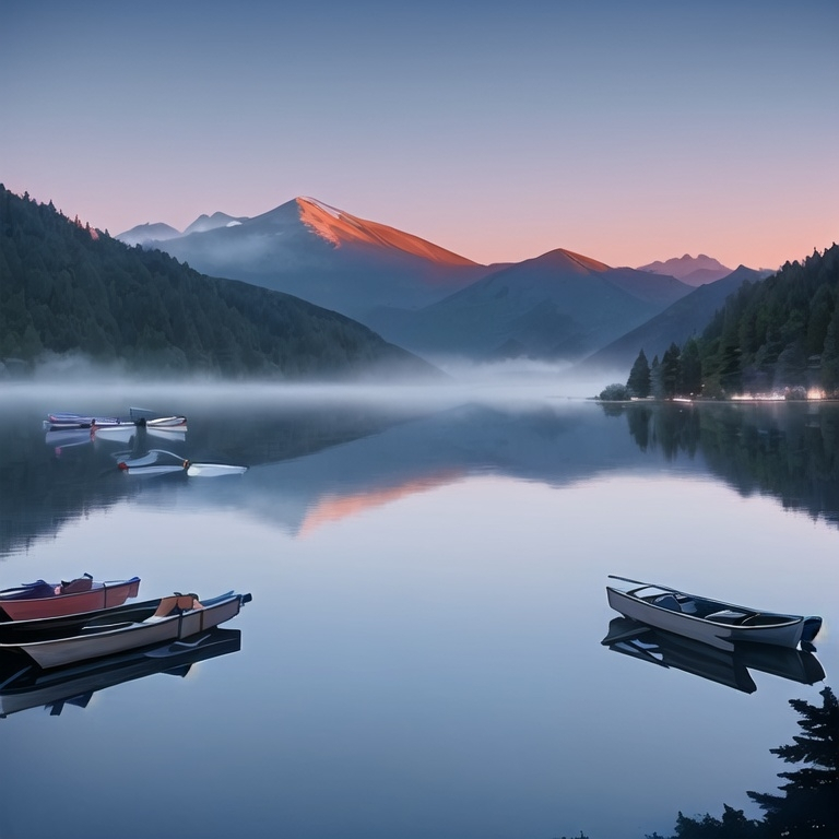
<svg viewBox="0 0 839 839"><path fill-rule="evenodd" d="M795 648L802 640L805 618L800 615L780 615L761 613L766 618L778 618L771 625L738 626L735 624L714 623L702 617L675 612L640 600L628 592L611 586L606 587L608 605L625 617L640 621L642 624L664 629L669 633L694 638L695 640L731 651L737 641L771 643L778 647ZM720 608L749 612L742 606L720 603Z"/></svg>

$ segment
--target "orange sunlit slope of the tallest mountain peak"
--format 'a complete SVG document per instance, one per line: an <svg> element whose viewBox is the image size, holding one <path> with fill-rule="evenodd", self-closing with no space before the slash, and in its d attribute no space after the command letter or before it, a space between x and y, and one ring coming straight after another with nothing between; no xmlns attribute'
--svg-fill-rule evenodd
<svg viewBox="0 0 839 839"><path fill-rule="evenodd" d="M410 233L403 233L385 224L357 218L314 198L297 198L296 201L300 221L336 248L348 243L359 243L377 248L401 250L448 265L477 264L471 259L437 247L418 236L412 236Z"/></svg>

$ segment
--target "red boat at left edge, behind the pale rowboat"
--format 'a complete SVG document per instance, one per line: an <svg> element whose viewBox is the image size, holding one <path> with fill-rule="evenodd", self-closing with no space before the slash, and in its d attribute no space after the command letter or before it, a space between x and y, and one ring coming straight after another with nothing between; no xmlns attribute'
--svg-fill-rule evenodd
<svg viewBox="0 0 839 839"><path fill-rule="evenodd" d="M58 583L36 580L0 591L0 622L58 617L121 606L140 590L140 578L95 582L90 574Z"/></svg>

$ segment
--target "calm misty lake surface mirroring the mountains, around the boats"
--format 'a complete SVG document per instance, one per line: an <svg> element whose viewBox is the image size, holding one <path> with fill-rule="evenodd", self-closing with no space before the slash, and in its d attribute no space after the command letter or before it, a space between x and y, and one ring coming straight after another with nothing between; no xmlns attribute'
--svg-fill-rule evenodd
<svg viewBox="0 0 839 839"><path fill-rule="evenodd" d="M129 405L189 430L40 424ZM139 448L249 469L120 472ZM723 802L758 817L746 790L776 791L769 749L800 732L788 700L820 705L839 667L837 404L7 385L0 528L0 588L252 593L204 660L12 708L3 839L642 839ZM752 669L747 693L619 654L610 574L819 614L826 680Z"/></svg>

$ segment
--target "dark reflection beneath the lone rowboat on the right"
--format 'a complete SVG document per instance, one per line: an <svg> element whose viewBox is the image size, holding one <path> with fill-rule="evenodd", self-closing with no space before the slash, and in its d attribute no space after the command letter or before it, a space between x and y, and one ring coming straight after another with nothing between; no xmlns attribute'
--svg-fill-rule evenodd
<svg viewBox="0 0 839 839"><path fill-rule="evenodd" d="M825 677L818 659L805 650L749 641L735 642L732 651L721 650L628 617L613 618L601 643L614 652L693 673L745 694L757 690L749 671L803 685L813 685Z"/></svg>

